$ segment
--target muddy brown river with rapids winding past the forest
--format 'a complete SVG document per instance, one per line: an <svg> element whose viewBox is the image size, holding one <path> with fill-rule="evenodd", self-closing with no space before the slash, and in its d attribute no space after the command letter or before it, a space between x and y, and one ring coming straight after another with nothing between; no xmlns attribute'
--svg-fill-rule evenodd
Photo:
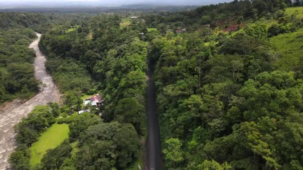
<svg viewBox="0 0 303 170"><path fill-rule="evenodd" d="M48 102L58 102L60 99L56 85L45 70L44 63L46 58L38 47L41 34L36 34L38 38L29 45L29 48L32 48L36 53L34 62L35 77L42 82L42 85L40 86L40 92L25 103L14 100L0 110L0 170L9 169L7 159L16 147L14 125L25 117L35 106L45 105Z"/></svg>

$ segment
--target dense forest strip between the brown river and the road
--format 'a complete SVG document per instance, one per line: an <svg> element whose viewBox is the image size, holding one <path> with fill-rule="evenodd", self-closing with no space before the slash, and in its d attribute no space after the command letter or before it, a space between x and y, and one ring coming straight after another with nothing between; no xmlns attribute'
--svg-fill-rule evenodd
<svg viewBox="0 0 303 170"><path fill-rule="evenodd" d="M35 169L124 169L136 160L146 129L147 43L135 27L120 29L120 21L117 15L98 15L80 25L53 25L42 35L39 46L64 94L63 106L34 110L16 126L18 148L10 157L14 169L32 168L27 147L45 131L41 127L55 122L69 124L69 140L49 150ZM68 115L70 108L83 108L83 94L97 92L106 101L102 119L92 107L90 113Z"/></svg>

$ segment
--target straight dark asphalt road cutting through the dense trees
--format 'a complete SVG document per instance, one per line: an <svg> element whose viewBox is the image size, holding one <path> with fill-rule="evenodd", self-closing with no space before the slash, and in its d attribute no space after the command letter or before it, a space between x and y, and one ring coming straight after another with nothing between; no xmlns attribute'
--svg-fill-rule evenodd
<svg viewBox="0 0 303 170"><path fill-rule="evenodd" d="M148 63L149 63L148 64L149 69L147 71L148 170L163 170L159 125L158 125L158 118L155 109L155 87L154 87L154 82L152 80L152 65L150 61Z"/></svg>

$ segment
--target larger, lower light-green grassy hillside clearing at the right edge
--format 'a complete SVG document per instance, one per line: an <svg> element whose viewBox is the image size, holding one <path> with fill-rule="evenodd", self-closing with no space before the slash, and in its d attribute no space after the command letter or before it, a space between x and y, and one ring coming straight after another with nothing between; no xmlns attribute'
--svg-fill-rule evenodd
<svg viewBox="0 0 303 170"><path fill-rule="evenodd" d="M270 41L281 55L275 63L279 70L292 71L294 67L303 64L303 28L296 32L280 34Z"/></svg>

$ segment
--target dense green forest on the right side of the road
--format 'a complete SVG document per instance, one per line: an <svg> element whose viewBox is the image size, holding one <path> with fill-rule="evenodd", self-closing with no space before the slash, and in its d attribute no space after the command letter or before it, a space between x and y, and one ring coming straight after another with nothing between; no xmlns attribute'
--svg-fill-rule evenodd
<svg viewBox="0 0 303 170"><path fill-rule="evenodd" d="M262 15L260 9L256 8L256 16ZM301 46L294 46L299 39L290 41L287 36L300 37L301 29L289 33L288 25L279 27L286 29L285 34L272 37L271 43L268 37L274 30L262 24L225 38L214 33L206 33L209 38L205 38L205 32L194 32L182 36L166 34L151 41L148 57L154 68L160 137L167 167L302 168L297 161L301 151L290 147L291 141L298 138L284 136L290 127L299 128L300 123L292 122L291 117L302 112L302 80L298 79L301 72L274 71L284 70L282 64L300 66L286 60L300 56ZM222 41L216 45L209 43L214 39ZM279 56L283 53L276 44L281 44L281 51L296 55L282 61L284 56ZM276 62L281 66L275 67ZM299 71L300 67L295 68ZM168 149L170 140L177 149ZM285 149L293 154L287 155Z"/></svg>

